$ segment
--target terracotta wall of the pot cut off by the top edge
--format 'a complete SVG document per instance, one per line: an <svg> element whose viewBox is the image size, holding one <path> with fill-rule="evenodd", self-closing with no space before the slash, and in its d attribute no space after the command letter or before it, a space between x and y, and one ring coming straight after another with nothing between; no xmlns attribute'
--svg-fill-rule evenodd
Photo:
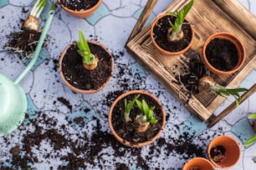
<svg viewBox="0 0 256 170"><path fill-rule="evenodd" d="M66 11L67 13L70 13L70 14L73 15L74 17L77 17L77 18L88 18L88 17L90 17L90 15L91 15L92 13L95 12L95 10L96 10L98 7L100 7L100 4L101 4L102 0L99 0L99 2L97 2L94 7L90 7L89 9L84 10L84 11L74 11L74 10L72 10L72 9L69 9L68 7L65 7L65 6L60 2L60 0L58 0L58 2L59 2L60 7L62 7L62 8L64 9L64 11Z"/></svg>

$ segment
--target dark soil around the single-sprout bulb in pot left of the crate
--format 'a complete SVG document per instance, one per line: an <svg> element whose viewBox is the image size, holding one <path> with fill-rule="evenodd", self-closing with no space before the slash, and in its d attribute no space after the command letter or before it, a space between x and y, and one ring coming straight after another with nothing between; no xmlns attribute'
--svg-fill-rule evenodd
<svg viewBox="0 0 256 170"><path fill-rule="evenodd" d="M98 66L94 70L87 70L83 66L83 58L77 52L74 44L69 47L62 62L65 79L74 87L83 90L98 89L111 76L112 57L102 47L89 42L90 51L99 57Z"/></svg>

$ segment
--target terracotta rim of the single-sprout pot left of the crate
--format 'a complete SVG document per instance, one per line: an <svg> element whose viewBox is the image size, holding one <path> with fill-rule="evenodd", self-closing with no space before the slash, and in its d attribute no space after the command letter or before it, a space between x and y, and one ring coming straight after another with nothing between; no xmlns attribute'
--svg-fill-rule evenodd
<svg viewBox="0 0 256 170"><path fill-rule="evenodd" d="M98 46L100 46L101 48L105 49L106 52L108 52L108 54L110 55L110 57L112 58L112 54L110 53L110 51L107 49L107 47L105 47L102 43L100 42L96 42L95 40L88 40L87 42L89 43L94 43ZM74 43L73 43L74 44ZM64 51L61 53L60 57L59 57L59 74L60 77L62 78L62 80L64 81L64 83L71 88L71 90L73 90L74 92L79 92L79 93L95 93L95 92L99 92L100 90L102 90L104 87L107 86L108 82L110 82L111 76L108 77L107 81L105 83L102 84L102 86L100 86L97 89L90 89L90 90L84 90L84 89L79 89L77 87L74 87L72 84L70 84L64 77L64 73L62 72L62 61L64 58L65 53L67 52L67 50L69 49L69 47L72 44L69 44L69 46L65 47ZM114 60L113 58L111 59L111 74L113 75L114 72Z"/></svg>

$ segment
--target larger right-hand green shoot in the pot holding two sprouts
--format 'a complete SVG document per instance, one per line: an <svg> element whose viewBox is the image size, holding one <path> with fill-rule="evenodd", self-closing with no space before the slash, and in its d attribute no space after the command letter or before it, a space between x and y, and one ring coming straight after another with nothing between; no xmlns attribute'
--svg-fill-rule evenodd
<svg viewBox="0 0 256 170"><path fill-rule="evenodd" d="M136 104L141 110L141 115L136 117L136 120L138 120L141 126L145 126L147 122L157 122L153 112L155 107L149 107L144 99L142 101L136 100Z"/></svg>

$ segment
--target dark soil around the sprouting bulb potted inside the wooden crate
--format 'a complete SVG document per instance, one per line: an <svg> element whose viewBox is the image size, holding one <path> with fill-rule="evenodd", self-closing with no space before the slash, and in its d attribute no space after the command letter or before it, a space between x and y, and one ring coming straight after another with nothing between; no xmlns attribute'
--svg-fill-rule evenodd
<svg viewBox="0 0 256 170"><path fill-rule="evenodd" d="M169 42L167 40L168 29L171 27L170 22L174 23L175 18L172 16L166 16L161 18L154 27L153 33L157 45L169 52L178 52L188 46L192 40L192 32L187 21L184 21L182 25L182 31L184 37L181 40Z"/></svg>

